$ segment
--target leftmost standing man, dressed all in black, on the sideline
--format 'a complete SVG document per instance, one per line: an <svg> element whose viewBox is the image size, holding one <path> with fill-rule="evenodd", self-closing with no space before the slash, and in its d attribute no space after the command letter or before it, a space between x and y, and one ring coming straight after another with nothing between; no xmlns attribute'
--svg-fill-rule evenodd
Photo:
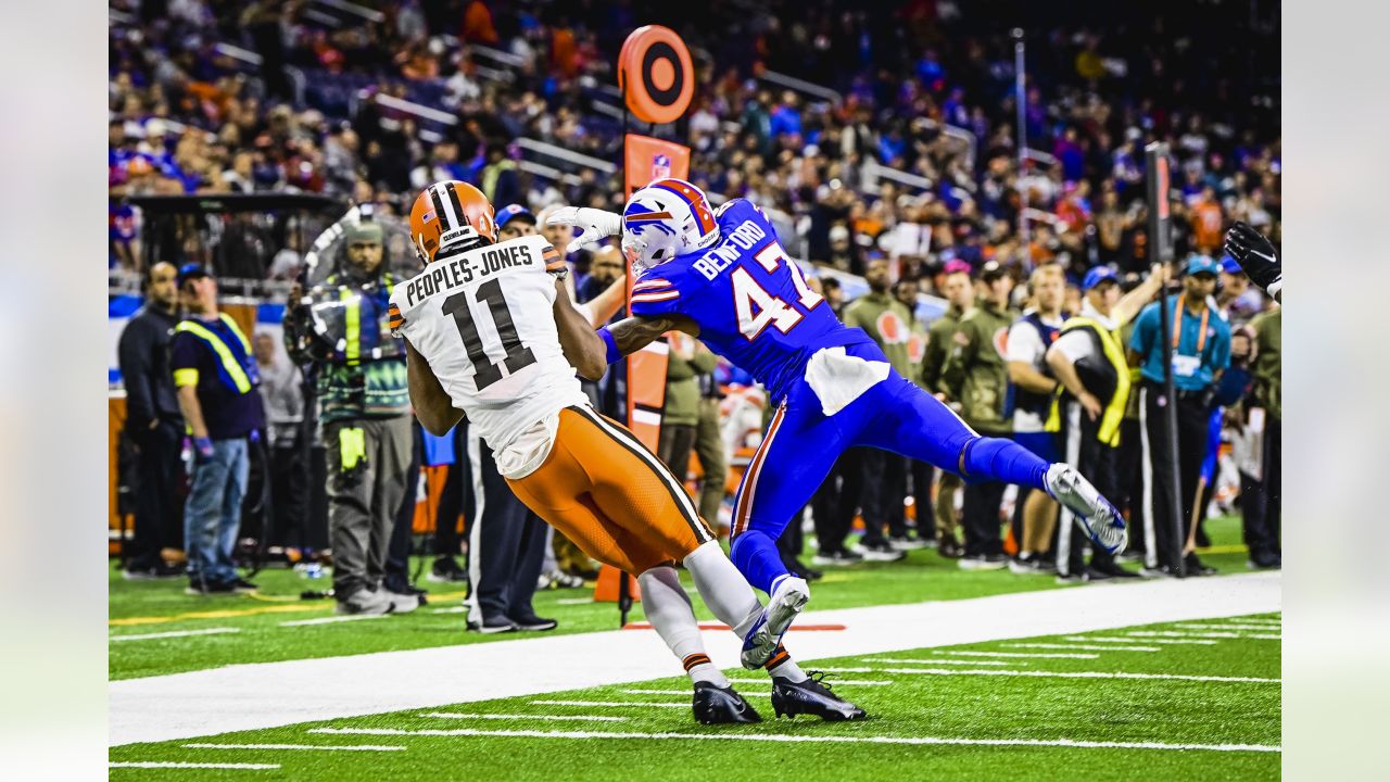
<svg viewBox="0 0 1390 782"><path fill-rule="evenodd" d="M117 353L125 383L125 437L135 445L135 536L124 576L132 580L177 576L182 568L160 551L182 548L179 491L183 466L183 415L174 392L170 342L178 324L177 271L156 263L145 276L145 306L125 324Z"/></svg>

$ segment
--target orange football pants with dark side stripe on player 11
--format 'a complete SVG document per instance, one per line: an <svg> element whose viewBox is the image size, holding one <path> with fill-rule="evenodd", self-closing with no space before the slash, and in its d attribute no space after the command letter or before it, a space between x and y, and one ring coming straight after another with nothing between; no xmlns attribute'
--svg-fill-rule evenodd
<svg viewBox="0 0 1390 782"><path fill-rule="evenodd" d="M585 554L634 576L716 540L671 470L589 406L560 410L550 455L507 483Z"/></svg>

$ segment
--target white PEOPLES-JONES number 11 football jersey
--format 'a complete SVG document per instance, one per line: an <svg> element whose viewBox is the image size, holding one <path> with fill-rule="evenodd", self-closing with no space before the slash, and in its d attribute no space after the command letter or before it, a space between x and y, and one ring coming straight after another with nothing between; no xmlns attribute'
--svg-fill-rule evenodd
<svg viewBox="0 0 1390 782"><path fill-rule="evenodd" d="M392 331L430 362L507 477L539 466L562 409L588 404L560 349L548 267L563 256L545 237L520 237L435 260L391 295Z"/></svg>

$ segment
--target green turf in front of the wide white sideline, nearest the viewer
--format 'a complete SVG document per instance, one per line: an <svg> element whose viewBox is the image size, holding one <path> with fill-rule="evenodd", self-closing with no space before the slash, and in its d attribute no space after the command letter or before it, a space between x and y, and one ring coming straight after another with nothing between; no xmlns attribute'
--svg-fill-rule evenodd
<svg viewBox="0 0 1390 782"><path fill-rule="evenodd" d="M819 661L869 711L853 724L773 719L766 678L730 671L763 724L699 726L689 683L666 678L121 746L111 779L1268 779L1279 628L1270 614ZM243 767L120 765L161 763Z"/></svg>

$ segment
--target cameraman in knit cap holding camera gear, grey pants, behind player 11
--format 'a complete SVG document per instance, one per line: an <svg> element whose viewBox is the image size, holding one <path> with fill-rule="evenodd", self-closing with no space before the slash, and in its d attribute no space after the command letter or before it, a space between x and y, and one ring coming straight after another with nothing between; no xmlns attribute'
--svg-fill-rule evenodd
<svg viewBox="0 0 1390 782"><path fill-rule="evenodd" d="M420 598L386 590L382 577L395 516L410 488L410 394L404 356L375 348L395 280L385 269L379 224L350 213L339 225L343 260L309 296L300 285L291 292L285 342L296 362L316 365L336 611L404 614ZM327 340L314 331L325 323L332 323Z"/></svg>

